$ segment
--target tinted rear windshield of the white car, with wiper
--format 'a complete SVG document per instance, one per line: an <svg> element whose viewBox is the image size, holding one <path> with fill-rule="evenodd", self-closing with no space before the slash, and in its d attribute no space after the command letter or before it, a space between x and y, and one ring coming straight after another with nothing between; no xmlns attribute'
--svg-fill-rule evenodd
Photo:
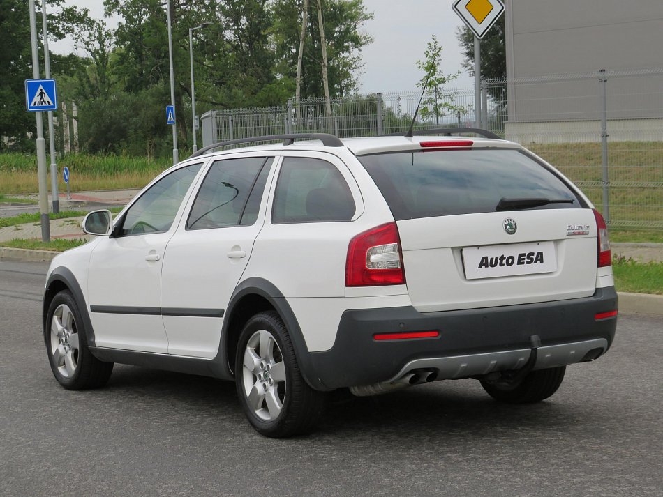
<svg viewBox="0 0 663 497"><path fill-rule="evenodd" d="M396 220L508 211L501 199L566 201L530 208L579 208L552 171L505 148L380 153L358 157Z"/></svg>

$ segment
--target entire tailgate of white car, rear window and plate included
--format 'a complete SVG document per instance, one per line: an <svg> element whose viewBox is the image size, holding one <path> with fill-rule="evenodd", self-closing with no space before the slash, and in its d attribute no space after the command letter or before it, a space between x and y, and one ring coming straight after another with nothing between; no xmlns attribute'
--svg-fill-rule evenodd
<svg viewBox="0 0 663 497"><path fill-rule="evenodd" d="M482 142L359 157L398 225L420 312L595 292L590 204L558 171L514 147Z"/></svg>

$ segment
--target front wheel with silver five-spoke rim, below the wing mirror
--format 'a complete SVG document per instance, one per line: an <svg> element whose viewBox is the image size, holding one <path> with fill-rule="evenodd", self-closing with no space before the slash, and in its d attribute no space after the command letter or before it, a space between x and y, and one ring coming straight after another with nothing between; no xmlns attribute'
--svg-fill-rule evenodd
<svg viewBox="0 0 663 497"><path fill-rule="evenodd" d="M51 301L46 326L48 362L60 385L85 390L107 383L113 363L98 360L88 349L87 330L69 291L60 291Z"/></svg>

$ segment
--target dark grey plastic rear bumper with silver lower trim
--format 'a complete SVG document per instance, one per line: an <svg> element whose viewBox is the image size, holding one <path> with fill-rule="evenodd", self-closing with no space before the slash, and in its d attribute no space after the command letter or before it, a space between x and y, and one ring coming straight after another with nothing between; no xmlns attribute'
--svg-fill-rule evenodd
<svg viewBox="0 0 663 497"><path fill-rule="evenodd" d="M437 379L459 379L518 369L530 355L530 337L541 340L535 369L599 357L613 342L614 287L587 298L447 312L414 307L356 309L343 313L332 349L311 353L315 376L326 388L397 381L426 369ZM438 330L432 339L377 342L376 333Z"/></svg>

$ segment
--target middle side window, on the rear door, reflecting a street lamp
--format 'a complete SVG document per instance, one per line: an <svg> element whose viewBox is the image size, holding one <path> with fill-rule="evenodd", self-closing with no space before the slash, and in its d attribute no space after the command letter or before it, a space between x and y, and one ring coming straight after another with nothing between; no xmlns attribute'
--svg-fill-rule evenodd
<svg viewBox="0 0 663 497"><path fill-rule="evenodd" d="M202 181L186 229L253 224L274 158L217 160Z"/></svg>

